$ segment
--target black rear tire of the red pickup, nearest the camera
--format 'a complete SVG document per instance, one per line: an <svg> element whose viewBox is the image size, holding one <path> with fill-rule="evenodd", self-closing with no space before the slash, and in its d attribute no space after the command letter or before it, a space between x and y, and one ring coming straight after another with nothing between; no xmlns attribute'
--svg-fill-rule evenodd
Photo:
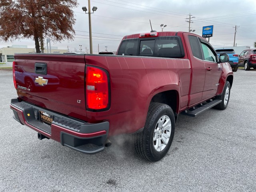
<svg viewBox="0 0 256 192"><path fill-rule="evenodd" d="M166 119L168 121L166 121ZM162 121L162 124L169 124L169 126L166 126L168 130L162 130L164 126L161 126L160 123L158 124L160 120ZM158 126L162 128L158 130ZM151 103L143 131L134 134L134 146L137 154L148 161L158 161L162 159L167 154L172 144L174 131L175 118L172 108L162 103ZM169 138L166 138L168 134L170 134ZM158 138L154 141L154 137ZM164 144L162 140L166 140L166 144ZM155 144L157 141L159 141L158 144ZM158 147L157 149L155 147L156 145L158 146L159 143L160 151L157 151Z"/></svg>

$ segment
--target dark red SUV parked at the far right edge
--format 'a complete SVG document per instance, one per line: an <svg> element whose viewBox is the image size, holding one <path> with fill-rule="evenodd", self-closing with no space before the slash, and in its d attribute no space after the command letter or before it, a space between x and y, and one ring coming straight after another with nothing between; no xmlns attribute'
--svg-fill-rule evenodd
<svg viewBox="0 0 256 192"><path fill-rule="evenodd" d="M248 71L251 67L256 69L256 49L243 50L238 58L238 66Z"/></svg>

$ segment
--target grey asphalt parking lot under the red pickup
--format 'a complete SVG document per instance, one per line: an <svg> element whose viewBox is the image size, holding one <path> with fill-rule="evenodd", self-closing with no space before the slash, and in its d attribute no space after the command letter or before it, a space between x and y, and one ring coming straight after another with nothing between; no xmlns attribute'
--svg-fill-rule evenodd
<svg viewBox="0 0 256 192"><path fill-rule="evenodd" d="M238 69L226 110L180 115L168 155L146 162L129 135L86 155L12 118L12 71L0 70L0 191L256 191L256 70Z"/></svg>

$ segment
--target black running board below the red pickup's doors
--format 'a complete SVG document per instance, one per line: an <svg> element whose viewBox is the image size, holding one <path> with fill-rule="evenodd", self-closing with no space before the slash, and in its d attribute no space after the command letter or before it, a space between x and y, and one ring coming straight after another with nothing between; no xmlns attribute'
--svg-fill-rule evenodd
<svg viewBox="0 0 256 192"><path fill-rule="evenodd" d="M198 114L201 114L202 112L205 112L206 110L218 105L220 102L222 102L222 100L213 100L210 102L204 102L195 107L182 111L181 114L187 115L190 117L196 117Z"/></svg>

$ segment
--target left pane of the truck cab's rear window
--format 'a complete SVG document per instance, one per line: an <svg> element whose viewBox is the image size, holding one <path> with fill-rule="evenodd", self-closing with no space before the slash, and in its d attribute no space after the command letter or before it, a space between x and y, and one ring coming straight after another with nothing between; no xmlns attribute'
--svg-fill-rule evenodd
<svg viewBox="0 0 256 192"><path fill-rule="evenodd" d="M136 56L138 50L138 39L123 40L117 55L130 55Z"/></svg>

